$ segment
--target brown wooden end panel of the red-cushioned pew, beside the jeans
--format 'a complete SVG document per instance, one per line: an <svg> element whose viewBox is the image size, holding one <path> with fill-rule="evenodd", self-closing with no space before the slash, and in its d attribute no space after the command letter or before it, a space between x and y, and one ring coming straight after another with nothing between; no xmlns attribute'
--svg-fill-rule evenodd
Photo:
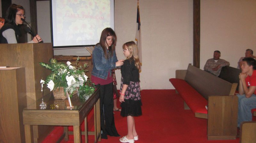
<svg viewBox="0 0 256 143"><path fill-rule="evenodd" d="M208 139L236 139L237 112L237 96L210 96L208 99Z"/></svg>

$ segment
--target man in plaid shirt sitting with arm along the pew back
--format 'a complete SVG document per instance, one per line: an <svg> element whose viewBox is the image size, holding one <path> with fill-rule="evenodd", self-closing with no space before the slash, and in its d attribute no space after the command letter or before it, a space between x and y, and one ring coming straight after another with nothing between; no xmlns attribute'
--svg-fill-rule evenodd
<svg viewBox="0 0 256 143"><path fill-rule="evenodd" d="M213 58L208 59L204 65L204 70L219 76L222 67L229 66L229 62L220 59L220 51L214 51Z"/></svg>

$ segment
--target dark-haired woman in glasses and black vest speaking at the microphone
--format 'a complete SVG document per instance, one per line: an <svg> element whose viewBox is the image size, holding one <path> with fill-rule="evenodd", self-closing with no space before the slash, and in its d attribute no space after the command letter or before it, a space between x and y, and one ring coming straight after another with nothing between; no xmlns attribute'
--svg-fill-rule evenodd
<svg viewBox="0 0 256 143"><path fill-rule="evenodd" d="M12 4L6 11L4 26L0 29L0 43L14 44L18 43L21 35L18 25L23 24L22 19L25 17L25 9L21 5ZM42 39L36 35L28 43L38 43Z"/></svg>

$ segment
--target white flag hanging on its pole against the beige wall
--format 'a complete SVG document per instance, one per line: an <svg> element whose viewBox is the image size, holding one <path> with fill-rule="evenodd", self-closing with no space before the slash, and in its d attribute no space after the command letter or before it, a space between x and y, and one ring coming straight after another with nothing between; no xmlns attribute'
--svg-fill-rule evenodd
<svg viewBox="0 0 256 143"><path fill-rule="evenodd" d="M139 4L138 4L138 6L137 6L137 29L136 29L135 41L137 41L137 46L138 46L138 51L139 51L140 65L142 65L142 53L141 53L141 26L140 26L140 9L139 9Z"/></svg>

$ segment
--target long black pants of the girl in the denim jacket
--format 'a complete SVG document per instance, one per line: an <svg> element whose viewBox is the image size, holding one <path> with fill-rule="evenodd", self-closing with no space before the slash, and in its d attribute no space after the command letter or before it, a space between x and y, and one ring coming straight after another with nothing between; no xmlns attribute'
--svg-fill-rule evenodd
<svg viewBox="0 0 256 143"><path fill-rule="evenodd" d="M116 131L113 103L113 82L100 85L100 127L102 139L108 139L107 135L120 136Z"/></svg>

